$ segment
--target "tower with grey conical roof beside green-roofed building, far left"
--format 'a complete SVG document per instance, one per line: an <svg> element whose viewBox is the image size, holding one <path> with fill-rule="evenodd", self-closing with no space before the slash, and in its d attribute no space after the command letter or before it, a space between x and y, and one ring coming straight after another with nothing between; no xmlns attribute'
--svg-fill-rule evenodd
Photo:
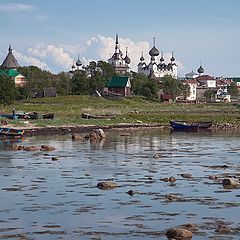
<svg viewBox="0 0 240 240"><path fill-rule="evenodd" d="M12 47L10 45L8 48L8 54L0 66L0 75L13 78L16 86L24 86L27 83L27 80L17 71L19 67L20 66L12 53Z"/></svg>

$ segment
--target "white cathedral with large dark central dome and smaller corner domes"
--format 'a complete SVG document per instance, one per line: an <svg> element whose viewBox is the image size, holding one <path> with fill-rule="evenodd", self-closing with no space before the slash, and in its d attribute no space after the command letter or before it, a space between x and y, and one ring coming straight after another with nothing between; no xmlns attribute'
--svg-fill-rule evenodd
<svg viewBox="0 0 240 240"><path fill-rule="evenodd" d="M153 47L149 51L149 55L150 55L150 63L147 64L145 62L145 59L142 53L140 62L138 64L138 73L142 73L147 77L154 76L156 78L161 78L166 75L170 75L174 78L177 78L178 68L177 68L177 64L175 63L175 57L173 56L173 52L172 52L172 57L170 58L170 62L165 62L165 59L163 57L163 52L162 52L160 62L157 63L156 58L159 55L159 51L155 47L155 38L153 40Z"/></svg>

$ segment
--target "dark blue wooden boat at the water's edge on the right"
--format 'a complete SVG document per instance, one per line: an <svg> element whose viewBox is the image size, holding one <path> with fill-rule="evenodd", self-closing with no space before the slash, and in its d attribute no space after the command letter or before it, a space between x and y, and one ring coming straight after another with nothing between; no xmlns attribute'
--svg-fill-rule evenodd
<svg viewBox="0 0 240 240"><path fill-rule="evenodd" d="M170 125L174 130L198 130L210 128L212 126L212 122L186 122L171 120Z"/></svg>

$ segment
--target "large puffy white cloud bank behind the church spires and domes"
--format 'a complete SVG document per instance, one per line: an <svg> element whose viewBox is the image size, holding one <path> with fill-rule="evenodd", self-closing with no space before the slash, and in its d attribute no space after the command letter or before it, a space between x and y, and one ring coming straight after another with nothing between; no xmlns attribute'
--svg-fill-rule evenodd
<svg viewBox="0 0 240 240"><path fill-rule="evenodd" d="M137 64L142 52L146 63L150 62L148 52L151 46L147 41L134 42L129 38L119 38L119 44L124 56L126 47L128 48L128 56L131 59L130 67L133 71L137 71ZM99 34L78 45L35 44L26 49L24 53L17 53L16 57L19 58L20 65L36 65L42 69L58 73L69 71L73 62L77 60L78 54L80 61L87 65L90 61L107 61L114 51L115 39ZM171 53L164 53L165 62L169 62L171 56ZM181 71L183 65L179 61L176 63Z"/></svg>

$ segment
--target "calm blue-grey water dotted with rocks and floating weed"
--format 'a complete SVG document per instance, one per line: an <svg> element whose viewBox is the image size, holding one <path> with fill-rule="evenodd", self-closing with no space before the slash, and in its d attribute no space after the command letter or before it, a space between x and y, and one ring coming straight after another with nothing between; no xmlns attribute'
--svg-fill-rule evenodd
<svg viewBox="0 0 240 240"><path fill-rule="evenodd" d="M240 177L239 133L121 134L95 143L71 136L19 143L49 144L53 152L13 151L1 142L0 239L166 239L168 228L187 223L198 227L193 239L240 239L240 189L221 185L225 176ZM170 176L175 184L160 180ZM120 187L100 190L99 181ZM219 224L231 233L218 234Z"/></svg>

